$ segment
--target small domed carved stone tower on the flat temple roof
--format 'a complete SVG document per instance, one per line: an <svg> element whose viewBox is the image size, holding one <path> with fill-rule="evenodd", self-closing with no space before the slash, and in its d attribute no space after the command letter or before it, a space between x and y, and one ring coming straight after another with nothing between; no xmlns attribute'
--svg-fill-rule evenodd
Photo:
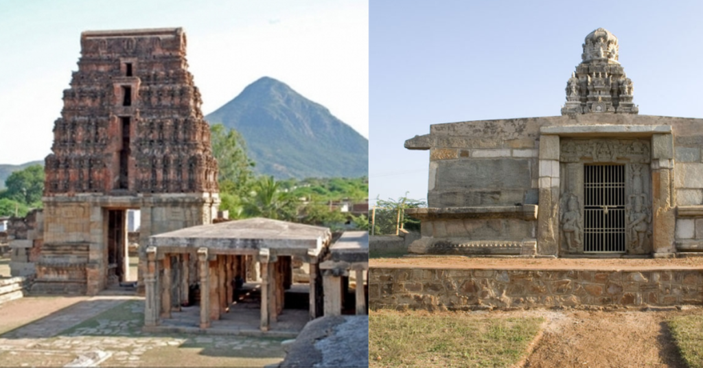
<svg viewBox="0 0 703 368"><path fill-rule="evenodd" d="M586 36L581 64L567 82L562 115L585 113L636 114L632 80L618 58L617 37L598 28Z"/></svg>

